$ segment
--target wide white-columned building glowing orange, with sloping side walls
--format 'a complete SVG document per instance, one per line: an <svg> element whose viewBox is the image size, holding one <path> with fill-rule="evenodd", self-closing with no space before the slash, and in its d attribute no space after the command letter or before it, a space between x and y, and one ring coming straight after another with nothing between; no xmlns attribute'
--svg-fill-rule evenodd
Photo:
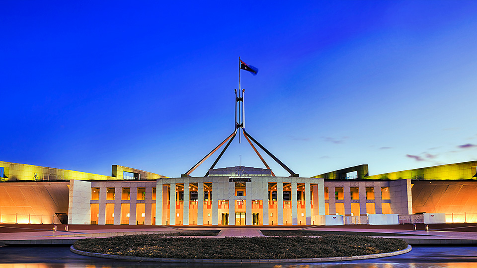
<svg viewBox="0 0 477 268"><path fill-rule="evenodd" d="M122 166L104 176L0 162L0 221L339 225L425 222L431 214L441 222L477 222L476 166L369 176L361 165L314 178L233 167L212 169L208 177L167 178Z"/></svg>

